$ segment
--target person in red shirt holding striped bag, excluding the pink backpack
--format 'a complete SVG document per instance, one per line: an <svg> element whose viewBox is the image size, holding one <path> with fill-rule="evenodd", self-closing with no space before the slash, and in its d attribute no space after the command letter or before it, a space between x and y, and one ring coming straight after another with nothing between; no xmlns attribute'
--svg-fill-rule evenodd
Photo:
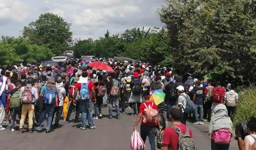
<svg viewBox="0 0 256 150"><path fill-rule="evenodd" d="M147 106L147 108L151 107L152 109L158 110L157 105L154 102L150 101L149 91L148 91L148 93L145 93L144 98L145 98L145 103L144 104ZM143 115L145 113L144 109L146 109L146 106L144 104L140 105L139 116L137 117L137 120L134 124L133 130L136 129L137 124L140 122L141 118L143 117ZM157 119L156 123L144 123L143 119L142 119L141 120L141 125L140 125L141 138L145 142L146 138L148 136L148 139L150 141L151 150L156 149L156 144L155 144L156 126L158 125L159 129L162 129L162 126L160 125L158 115L157 115L156 119Z"/></svg>

